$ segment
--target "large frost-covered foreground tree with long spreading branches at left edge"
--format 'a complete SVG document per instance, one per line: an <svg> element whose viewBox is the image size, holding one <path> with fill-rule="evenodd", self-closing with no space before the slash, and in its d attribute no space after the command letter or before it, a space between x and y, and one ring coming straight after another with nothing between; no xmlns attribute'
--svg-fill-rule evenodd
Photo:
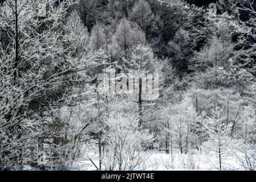
<svg viewBox="0 0 256 182"><path fill-rule="evenodd" d="M63 18L74 3L11 0L0 6L0 32L6 35L0 43L1 169L22 167L27 143L42 134L43 112L81 99L71 91L86 77L76 73L91 67L93 56L73 56L81 32L76 35Z"/></svg>

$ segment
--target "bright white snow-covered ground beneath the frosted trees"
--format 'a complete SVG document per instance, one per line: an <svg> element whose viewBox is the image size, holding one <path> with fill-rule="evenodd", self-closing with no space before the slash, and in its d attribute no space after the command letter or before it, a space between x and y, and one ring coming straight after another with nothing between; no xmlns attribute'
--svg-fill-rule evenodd
<svg viewBox="0 0 256 182"><path fill-rule="evenodd" d="M144 163L144 169L148 171L177 171L177 170L218 170L218 156L216 154L174 154L172 165L171 154L165 154L160 151L147 152L149 158ZM74 170L91 171L96 170L90 159L98 166L98 154L95 152L86 152L83 158L77 159L74 163ZM222 170L243 170L237 163L236 156L229 156L222 160Z"/></svg>

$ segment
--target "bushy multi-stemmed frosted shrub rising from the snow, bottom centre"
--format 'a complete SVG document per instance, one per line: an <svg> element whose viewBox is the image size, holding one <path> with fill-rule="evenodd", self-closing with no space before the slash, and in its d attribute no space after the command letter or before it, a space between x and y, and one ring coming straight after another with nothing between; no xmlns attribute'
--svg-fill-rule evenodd
<svg viewBox="0 0 256 182"><path fill-rule="evenodd" d="M139 129L138 121L132 115L111 117L108 125L108 142L102 155L107 170L138 170L148 158L144 151L154 141L148 130Z"/></svg>

